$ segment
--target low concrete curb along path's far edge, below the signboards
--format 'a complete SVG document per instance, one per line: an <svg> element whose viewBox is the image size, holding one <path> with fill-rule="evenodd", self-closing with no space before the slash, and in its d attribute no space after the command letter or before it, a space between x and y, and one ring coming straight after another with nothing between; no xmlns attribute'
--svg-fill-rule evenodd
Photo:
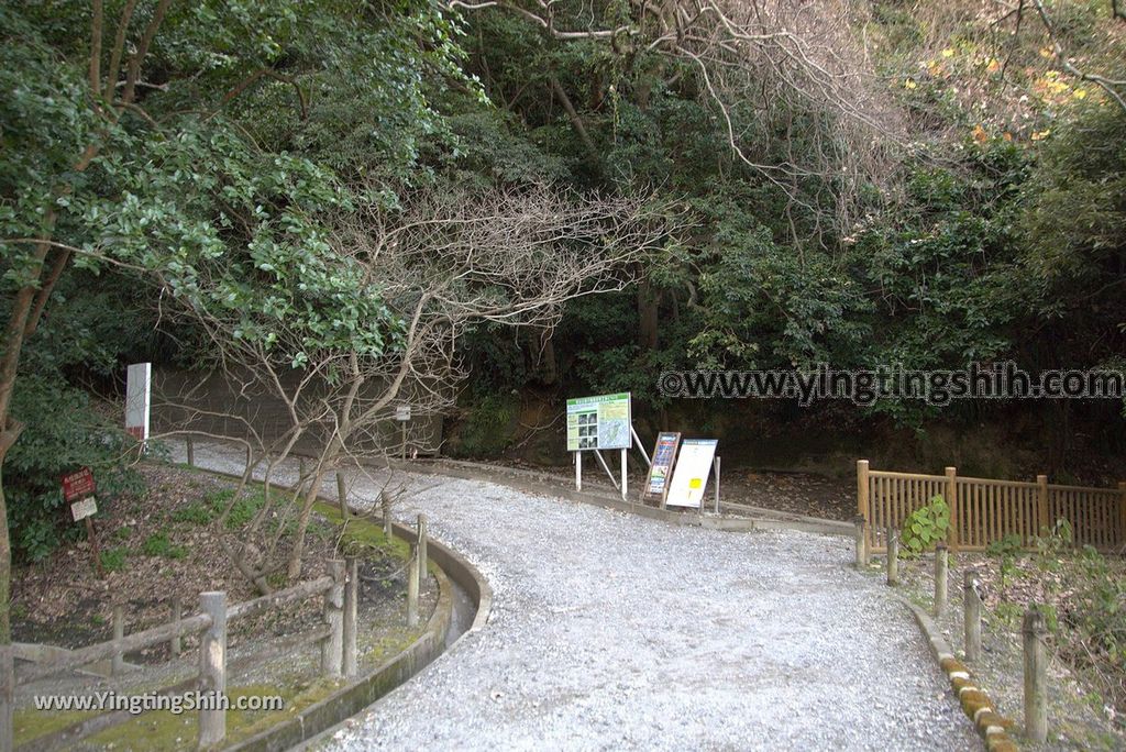
<svg viewBox="0 0 1126 752"><path fill-rule="evenodd" d="M640 514L653 520L669 522L671 525L682 525L686 527L701 527L709 530L727 530L733 532L745 532L749 530L798 530L802 532L815 532L820 535L852 536L855 526L851 522L839 520L824 520L816 517L805 517L792 514L776 510L749 507L747 504L732 504L721 502L722 507L731 507L745 510L752 514L750 518L715 517L712 514L700 514L692 511L678 512L672 510L654 509L642 504L632 504L622 501L622 496L614 493L575 491L560 483L560 478L548 473L526 471L517 467L502 467L495 465L482 465L457 459L426 459L415 462L392 460L391 466L406 473L419 475L435 475L445 477L457 477L467 481L485 481L497 483L517 491L538 493L543 495L556 496L575 501L583 504L592 504L602 509L611 509L619 512Z"/></svg>

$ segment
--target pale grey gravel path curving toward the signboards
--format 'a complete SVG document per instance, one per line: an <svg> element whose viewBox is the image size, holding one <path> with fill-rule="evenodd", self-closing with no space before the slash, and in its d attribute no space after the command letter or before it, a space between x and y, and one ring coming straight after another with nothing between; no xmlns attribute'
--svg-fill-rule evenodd
<svg viewBox="0 0 1126 752"><path fill-rule="evenodd" d="M906 609L848 567L847 539L411 482L396 514L427 513L488 578L493 614L332 749L981 749Z"/></svg>

